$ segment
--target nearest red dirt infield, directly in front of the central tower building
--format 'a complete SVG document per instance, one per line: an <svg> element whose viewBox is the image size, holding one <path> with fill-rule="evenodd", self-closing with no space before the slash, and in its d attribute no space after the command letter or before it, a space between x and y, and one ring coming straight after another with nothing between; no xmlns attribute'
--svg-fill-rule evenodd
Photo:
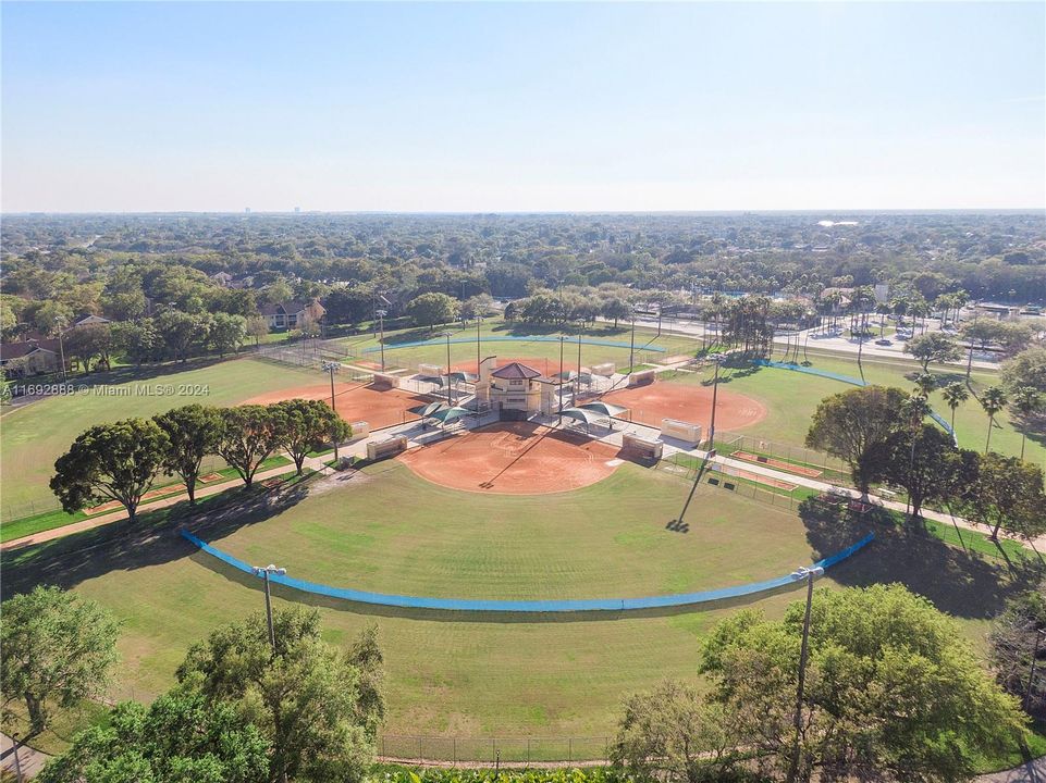
<svg viewBox="0 0 1046 783"><path fill-rule="evenodd" d="M492 424L396 459L433 484L502 495L578 489L620 464L613 446L530 422Z"/></svg>

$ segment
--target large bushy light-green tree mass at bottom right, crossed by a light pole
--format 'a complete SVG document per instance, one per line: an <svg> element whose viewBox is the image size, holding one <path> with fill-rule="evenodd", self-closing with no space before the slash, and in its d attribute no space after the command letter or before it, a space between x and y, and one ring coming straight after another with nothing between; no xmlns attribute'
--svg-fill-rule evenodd
<svg viewBox="0 0 1046 783"><path fill-rule="evenodd" d="M796 780L952 781L1012 747L1016 700L977 662L953 620L900 585L814 594L807 687L793 717L804 606L780 621L744 610L709 638L701 671L735 742Z"/></svg>

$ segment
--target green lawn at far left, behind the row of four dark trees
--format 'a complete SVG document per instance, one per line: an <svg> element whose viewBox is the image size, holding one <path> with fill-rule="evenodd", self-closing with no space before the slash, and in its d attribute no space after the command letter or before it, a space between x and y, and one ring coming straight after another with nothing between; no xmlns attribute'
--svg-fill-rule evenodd
<svg viewBox="0 0 1046 783"><path fill-rule="evenodd" d="M87 394L50 397L4 413L0 437L0 519L10 520L57 506L48 482L57 460L91 424L130 417L150 417L181 405L234 405L266 391L322 382L300 369L236 359L181 370L177 365L121 373L119 384L102 384ZM95 381L71 377L71 383ZM179 393L184 394L179 394Z"/></svg>

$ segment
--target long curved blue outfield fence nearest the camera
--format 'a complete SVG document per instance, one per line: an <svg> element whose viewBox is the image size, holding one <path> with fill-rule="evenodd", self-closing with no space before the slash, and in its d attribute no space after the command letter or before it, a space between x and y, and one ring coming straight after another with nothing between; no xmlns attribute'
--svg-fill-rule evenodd
<svg viewBox="0 0 1046 783"><path fill-rule="evenodd" d="M210 544L188 531L182 531L182 537L198 546L202 551L218 558L222 562L232 566L237 571L254 575L254 570L243 560L234 558L221 549L216 549ZM870 544L875 538L874 533L869 533L857 544L847 547L842 551L836 552L830 557L819 560L813 567L828 569L836 563L846 560L848 557L859 551L862 547ZM473 611L473 612L583 612L583 611L629 611L636 609L660 609L664 607L681 607L694 604L707 604L710 601L723 600L724 598L738 598L740 596L763 593L792 584L795 580L791 574L778 576L777 579L765 582L753 582L736 587L724 587L715 591L704 591L701 593L684 593L666 596L650 596L647 598L588 598L578 600L485 600L468 598L429 598L424 596L401 596L386 595L384 593L368 593L347 587L331 587L329 585L316 584L291 576L274 574L270 581L285 587L313 595L325 596L328 598L341 598L357 604L374 604L379 606L398 607L404 609L433 609L450 611Z"/></svg>

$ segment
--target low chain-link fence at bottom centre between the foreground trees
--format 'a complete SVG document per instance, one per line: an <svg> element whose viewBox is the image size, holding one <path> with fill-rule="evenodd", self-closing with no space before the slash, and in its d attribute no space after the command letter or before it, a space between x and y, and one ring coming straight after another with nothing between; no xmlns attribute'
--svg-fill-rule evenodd
<svg viewBox="0 0 1046 783"><path fill-rule="evenodd" d="M610 737L459 737L384 734L378 754L417 761L530 763L605 759Z"/></svg>

